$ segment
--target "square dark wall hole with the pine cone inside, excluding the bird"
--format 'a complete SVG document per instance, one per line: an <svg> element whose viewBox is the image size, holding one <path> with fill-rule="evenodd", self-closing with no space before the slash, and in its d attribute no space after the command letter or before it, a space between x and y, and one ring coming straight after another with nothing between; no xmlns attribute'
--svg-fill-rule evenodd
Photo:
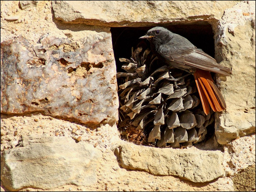
<svg viewBox="0 0 256 192"><path fill-rule="evenodd" d="M214 57L210 24L163 26ZM174 77L187 72L170 68L166 71L167 64L155 57L149 42L139 39L153 27L110 30L117 69L121 137L139 145L173 148L205 142L214 135L214 112L204 114L193 75L177 82L179 89L164 79L168 72Z"/></svg>

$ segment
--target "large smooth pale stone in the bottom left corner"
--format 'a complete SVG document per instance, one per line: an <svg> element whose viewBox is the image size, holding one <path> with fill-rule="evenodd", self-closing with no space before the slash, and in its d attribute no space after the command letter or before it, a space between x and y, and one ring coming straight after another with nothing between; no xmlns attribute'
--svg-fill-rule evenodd
<svg viewBox="0 0 256 192"><path fill-rule="evenodd" d="M8 190L97 183L95 167L102 154L93 145L45 135L25 137L20 145L1 158L1 180Z"/></svg>

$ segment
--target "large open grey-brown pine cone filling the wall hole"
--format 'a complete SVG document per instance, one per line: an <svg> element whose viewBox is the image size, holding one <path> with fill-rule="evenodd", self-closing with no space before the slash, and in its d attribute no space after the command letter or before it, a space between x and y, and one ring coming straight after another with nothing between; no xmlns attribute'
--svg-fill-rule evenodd
<svg viewBox="0 0 256 192"><path fill-rule="evenodd" d="M206 127L214 117L212 112L205 115L199 105L191 76L181 79L177 82L179 88L175 88L168 79L170 74L181 77L186 72L171 69L142 47L132 48L131 59L119 60L125 62L122 69L126 71L117 73L118 78L125 77L119 85L119 112L128 115L137 130L144 131L148 143L177 148L204 140Z"/></svg>

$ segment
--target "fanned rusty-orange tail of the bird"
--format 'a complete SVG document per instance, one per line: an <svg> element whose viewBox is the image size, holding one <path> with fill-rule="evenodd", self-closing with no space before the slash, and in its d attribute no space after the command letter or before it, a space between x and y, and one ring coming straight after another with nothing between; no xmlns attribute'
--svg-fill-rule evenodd
<svg viewBox="0 0 256 192"><path fill-rule="evenodd" d="M196 70L194 77L205 114L210 112L210 106L214 112L225 110L225 100L215 85L210 72Z"/></svg>

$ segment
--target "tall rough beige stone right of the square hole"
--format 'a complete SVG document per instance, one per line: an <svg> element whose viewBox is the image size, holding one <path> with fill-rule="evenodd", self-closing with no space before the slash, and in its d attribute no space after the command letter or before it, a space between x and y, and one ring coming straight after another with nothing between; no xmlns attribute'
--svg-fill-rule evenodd
<svg viewBox="0 0 256 192"><path fill-rule="evenodd" d="M219 23L216 59L232 69L232 76L221 83L227 109L216 115L215 134L226 144L238 135L255 133L255 2L225 10Z"/></svg>

